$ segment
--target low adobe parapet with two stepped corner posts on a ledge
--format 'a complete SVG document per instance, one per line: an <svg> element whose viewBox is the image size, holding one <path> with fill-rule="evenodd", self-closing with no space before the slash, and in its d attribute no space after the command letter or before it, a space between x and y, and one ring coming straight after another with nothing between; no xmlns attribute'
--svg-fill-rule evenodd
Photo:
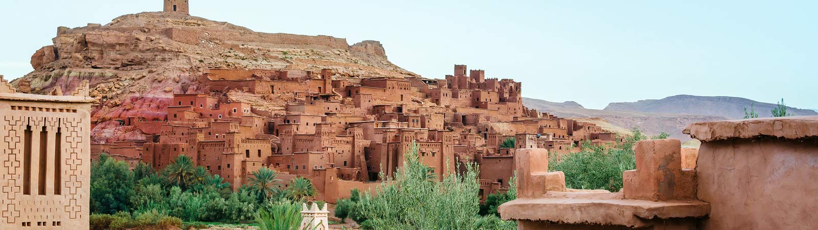
<svg viewBox="0 0 818 230"><path fill-rule="evenodd" d="M680 151L679 140L638 142L636 170L612 193L569 189L562 172L548 171L548 151L519 149L518 199L498 211L519 229L694 229L710 206L691 198L695 172L681 169Z"/></svg>

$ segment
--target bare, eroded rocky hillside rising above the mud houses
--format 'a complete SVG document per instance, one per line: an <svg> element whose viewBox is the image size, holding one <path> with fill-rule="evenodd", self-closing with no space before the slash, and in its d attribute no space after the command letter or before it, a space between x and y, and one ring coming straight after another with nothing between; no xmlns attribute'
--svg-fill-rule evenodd
<svg viewBox="0 0 818 230"><path fill-rule="evenodd" d="M344 38L258 33L164 12L119 16L107 25L60 27L52 40L31 56L34 72L12 84L47 93L57 87L75 88L87 79L91 96L97 99L92 112L96 124L128 116L160 117L173 93L209 93L197 82L208 68L331 69L338 77L416 76L386 59L384 47L376 41L350 46ZM286 100L268 99L278 104ZM127 130L115 132L115 126L97 125L93 136L103 138L98 141L141 138Z"/></svg>

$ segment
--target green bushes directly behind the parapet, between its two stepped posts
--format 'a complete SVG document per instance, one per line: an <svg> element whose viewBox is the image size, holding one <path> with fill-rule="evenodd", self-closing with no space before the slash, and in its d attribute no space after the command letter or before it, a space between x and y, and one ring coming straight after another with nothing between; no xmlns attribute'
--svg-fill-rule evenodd
<svg viewBox="0 0 818 230"><path fill-rule="evenodd" d="M617 141L612 146L594 146L586 142L582 151L562 156L561 159L551 156L549 169L562 171L565 185L569 188L618 192L622 189L622 172L636 169L633 146L647 139L639 129L631 129L631 133L624 141ZM662 133L652 138L664 139L667 136L667 133Z"/></svg>

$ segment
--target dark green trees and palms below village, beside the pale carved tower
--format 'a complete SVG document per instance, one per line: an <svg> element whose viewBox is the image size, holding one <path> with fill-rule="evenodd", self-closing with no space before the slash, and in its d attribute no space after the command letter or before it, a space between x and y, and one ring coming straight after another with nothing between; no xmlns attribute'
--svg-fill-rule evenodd
<svg viewBox="0 0 818 230"><path fill-rule="evenodd" d="M100 229L151 228L151 224L168 221L182 227L182 220L248 223L257 219L262 206L275 209L279 203L273 204L273 200L294 203L316 195L307 178L294 181L287 191L281 190L281 180L267 168L254 172L250 181L249 186L233 192L224 178L196 167L188 156L178 156L164 170L155 172L144 163L128 169L124 161L103 154L92 162L92 223Z"/></svg>

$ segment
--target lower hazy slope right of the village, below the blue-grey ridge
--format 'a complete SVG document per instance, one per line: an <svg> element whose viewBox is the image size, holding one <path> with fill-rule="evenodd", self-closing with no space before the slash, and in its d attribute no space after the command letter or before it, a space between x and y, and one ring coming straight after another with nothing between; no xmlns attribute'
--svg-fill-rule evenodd
<svg viewBox="0 0 818 230"><path fill-rule="evenodd" d="M523 105L540 112L549 112L565 118L578 118L582 121L600 125L605 130L622 133L621 130L639 128L649 135L669 133L671 138L690 140L690 137L681 133L688 124L709 120L728 120L723 116L715 115L681 115L659 114L641 111L620 110L591 110L582 107L577 102L551 102L523 97ZM599 118L599 119L591 119Z"/></svg>

